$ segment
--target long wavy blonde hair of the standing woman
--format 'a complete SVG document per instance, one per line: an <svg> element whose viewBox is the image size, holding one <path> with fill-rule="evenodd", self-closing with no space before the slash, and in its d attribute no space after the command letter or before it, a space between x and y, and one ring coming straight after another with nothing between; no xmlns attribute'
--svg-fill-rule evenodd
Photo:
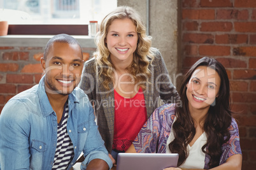
<svg viewBox="0 0 256 170"><path fill-rule="evenodd" d="M109 84L110 82L113 82L113 69L115 69L115 66L111 63L109 57L110 50L105 43L106 36L113 20L125 18L132 20L134 25L136 25L136 31L138 33L137 48L136 51L134 51L131 65L126 69L134 78L135 83L148 82L148 77L151 76L148 66L152 63L155 57L155 50L151 48L151 37L146 36L146 27L137 11L129 6L119 6L103 18L99 27L99 32L96 34L97 50L94 53L94 56L96 58L97 77L104 75L105 79L103 85L106 89L110 89ZM140 84L140 86L145 89L145 84Z"/></svg>

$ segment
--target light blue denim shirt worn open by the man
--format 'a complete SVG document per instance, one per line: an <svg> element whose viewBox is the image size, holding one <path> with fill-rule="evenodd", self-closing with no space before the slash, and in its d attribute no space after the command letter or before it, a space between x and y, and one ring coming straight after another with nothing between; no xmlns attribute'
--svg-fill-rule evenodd
<svg viewBox="0 0 256 170"><path fill-rule="evenodd" d="M104 141L94 121L89 99L79 88L68 96L67 130L74 146L70 169L81 152L86 169L92 159L103 159L112 167ZM52 169L57 144L57 116L45 92L42 77L38 85L11 98L0 115L0 169Z"/></svg>

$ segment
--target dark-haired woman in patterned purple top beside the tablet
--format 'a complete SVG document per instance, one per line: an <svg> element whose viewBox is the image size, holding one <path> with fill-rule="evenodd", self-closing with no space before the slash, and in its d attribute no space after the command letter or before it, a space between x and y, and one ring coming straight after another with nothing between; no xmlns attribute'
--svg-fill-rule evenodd
<svg viewBox="0 0 256 170"><path fill-rule="evenodd" d="M178 153L178 166L185 168L241 169L223 65L213 58L198 60L183 79L180 97L182 107L166 104L153 112L127 152Z"/></svg>

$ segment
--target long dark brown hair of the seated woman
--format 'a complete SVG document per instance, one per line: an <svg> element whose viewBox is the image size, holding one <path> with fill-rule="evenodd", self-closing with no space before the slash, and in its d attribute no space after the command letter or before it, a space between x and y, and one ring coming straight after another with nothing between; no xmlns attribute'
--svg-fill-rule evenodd
<svg viewBox="0 0 256 170"><path fill-rule="evenodd" d="M183 164L188 157L187 146L196 134L194 121L188 110L188 99L186 95L186 84L190 80L194 70L199 66L206 66L214 69L220 76L220 89L215 103L210 106L208 114L204 119L203 130L207 136L207 142L202 147L205 154L210 155L209 167L219 165L222 155L221 147L229 141L229 126L231 125L231 108L229 95L229 77L224 66L213 58L204 57L198 60L185 75L180 88L180 99L183 107L176 107L176 121L173 123L174 140L169 144L172 153L179 154L178 166ZM206 151L204 149L206 148Z"/></svg>

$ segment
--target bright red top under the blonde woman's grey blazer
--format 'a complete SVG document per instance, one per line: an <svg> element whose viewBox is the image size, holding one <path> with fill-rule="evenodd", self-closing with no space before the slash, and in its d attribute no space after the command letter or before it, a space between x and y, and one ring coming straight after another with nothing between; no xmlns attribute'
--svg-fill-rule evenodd
<svg viewBox="0 0 256 170"><path fill-rule="evenodd" d="M146 104L143 90L139 88L133 98L115 93L115 126L113 149L126 151L145 124Z"/></svg>

